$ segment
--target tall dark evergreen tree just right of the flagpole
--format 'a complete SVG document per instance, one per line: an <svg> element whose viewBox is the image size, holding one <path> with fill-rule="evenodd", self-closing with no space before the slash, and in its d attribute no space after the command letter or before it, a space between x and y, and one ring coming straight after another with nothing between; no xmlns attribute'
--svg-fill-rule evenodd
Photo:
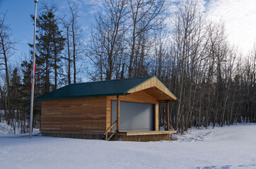
<svg viewBox="0 0 256 169"><path fill-rule="evenodd" d="M44 87L43 93L57 89L61 54L64 49L65 39L59 30L56 10L56 6L45 6L37 19L37 71L43 80L40 84ZM31 17L34 18L33 15ZM54 82L50 81L52 77Z"/></svg>

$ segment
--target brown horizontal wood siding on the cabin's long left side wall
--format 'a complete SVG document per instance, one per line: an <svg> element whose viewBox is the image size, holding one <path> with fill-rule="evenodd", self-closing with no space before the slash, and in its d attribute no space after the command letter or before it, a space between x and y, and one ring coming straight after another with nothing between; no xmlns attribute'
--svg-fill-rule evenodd
<svg viewBox="0 0 256 169"><path fill-rule="evenodd" d="M41 132L105 132L106 97L42 101Z"/></svg>

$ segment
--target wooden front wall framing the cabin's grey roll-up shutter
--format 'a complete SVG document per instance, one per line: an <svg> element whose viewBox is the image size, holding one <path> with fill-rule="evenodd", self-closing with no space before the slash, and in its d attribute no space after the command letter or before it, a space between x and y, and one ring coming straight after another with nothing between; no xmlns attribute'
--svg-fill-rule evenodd
<svg viewBox="0 0 256 169"><path fill-rule="evenodd" d="M136 103L142 103L142 104L155 104L155 111L154 111L154 124L155 129L158 130L158 101L153 98L153 96L150 96L149 94L146 94L146 92L135 92L132 94L127 94L124 96L119 96L120 101L131 101ZM106 128L110 127L110 125L113 123L111 121L111 101L117 100L117 96L107 96L107 121L106 121Z"/></svg>

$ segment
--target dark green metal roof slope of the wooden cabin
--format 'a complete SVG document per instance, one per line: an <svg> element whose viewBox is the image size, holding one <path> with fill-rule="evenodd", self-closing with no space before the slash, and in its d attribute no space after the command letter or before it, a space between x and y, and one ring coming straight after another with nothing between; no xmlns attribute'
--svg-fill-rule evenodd
<svg viewBox="0 0 256 169"><path fill-rule="evenodd" d="M96 96L119 96L153 77L74 83L37 97L35 100L74 99Z"/></svg>

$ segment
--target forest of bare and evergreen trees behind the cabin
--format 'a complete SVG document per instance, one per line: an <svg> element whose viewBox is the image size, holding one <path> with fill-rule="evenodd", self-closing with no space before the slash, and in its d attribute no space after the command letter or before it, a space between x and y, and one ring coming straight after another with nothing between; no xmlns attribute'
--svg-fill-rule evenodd
<svg viewBox="0 0 256 169"><path fill-rule="evenodd" d="M66 84L156 76L175 96L170 124L183 133L190 127L256 122L256 44L241 54L227 39L225 23L207 18L197 0L105 0L88 36L80 8L69 11L44 4L37 13L35 97ZM0 15L0 122L28 132L31 53L13 67L11 25ZM31 18L33 25L34 15ZM31 34L32 36L32 34ZM40 128L40 101L33 126ZM159 122L165 127L165 104Z"/></svg>

